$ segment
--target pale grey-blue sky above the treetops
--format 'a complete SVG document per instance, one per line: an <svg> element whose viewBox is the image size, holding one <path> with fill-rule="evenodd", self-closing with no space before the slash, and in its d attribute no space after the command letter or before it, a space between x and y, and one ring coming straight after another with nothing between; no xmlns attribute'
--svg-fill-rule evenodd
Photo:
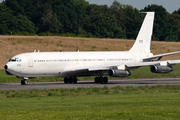
<svg viewBox="0 0 180 120"><path fill-rule="evenodd" d="M3 0L0 0L2 2ZM90 4L98 4L98 5L112 5L114 0L86 0ZM169 13L172 13L174 10L178 10L180 8L180 0L117 0L121 4L132 5L139 10L143 9L147 5L157 4L162 5Z"/></svg>

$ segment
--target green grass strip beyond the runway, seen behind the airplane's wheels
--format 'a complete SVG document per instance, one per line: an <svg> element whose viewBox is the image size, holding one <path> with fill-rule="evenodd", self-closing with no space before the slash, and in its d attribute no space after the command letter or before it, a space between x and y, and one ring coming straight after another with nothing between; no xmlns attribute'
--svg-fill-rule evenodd
<svg viewBox="0 0 180 120"><path fill-rule="evenodd" d="M177 78L180 77L180 64L173 66L174 71L168 74L157 74L151 73L150 67L141 67L135 71L131 71L132 75L126 78L114 78L109 77L110 80L113 79L137 79L137 78ZM79 77L78 81L81 80L93 80L92 77ZM55 82L55 81L63 81L63 78L58 77L43 77L43 78L35 78L29 80L29 82ZM20 79L15 76L6 75L4 70L0 70L0 83L18 83Z"/></svg>

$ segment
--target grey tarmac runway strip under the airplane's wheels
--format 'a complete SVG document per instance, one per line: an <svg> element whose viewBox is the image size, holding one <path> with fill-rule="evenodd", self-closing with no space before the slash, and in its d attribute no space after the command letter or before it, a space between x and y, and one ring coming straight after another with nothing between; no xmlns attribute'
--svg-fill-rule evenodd
<svg viewBox="0 0 180 120"><path fill-rule="evenodd" d="M64 84L60 82L41 82L21 85L20 83L0 84L0 90L31 90L31 89L53 89L53 88L78 88L78 87L116 87L116 86L157 86L157 85L180 85L180 78L153 78L153 79L121 79L109 80L107 84L97 84L94 81L78 81L77 84Z"/></svg>

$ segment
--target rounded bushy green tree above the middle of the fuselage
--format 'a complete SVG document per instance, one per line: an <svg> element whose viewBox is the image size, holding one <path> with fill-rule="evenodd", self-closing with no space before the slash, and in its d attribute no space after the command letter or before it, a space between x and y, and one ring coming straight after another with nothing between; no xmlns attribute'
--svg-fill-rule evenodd
<svg viewBox="0 0 180 120"><path fill-rule="evenodd" d="M118 28L116 19L112 15L93 15L86 21L84 29L101 38L125 37L125 32Z"/></svg>

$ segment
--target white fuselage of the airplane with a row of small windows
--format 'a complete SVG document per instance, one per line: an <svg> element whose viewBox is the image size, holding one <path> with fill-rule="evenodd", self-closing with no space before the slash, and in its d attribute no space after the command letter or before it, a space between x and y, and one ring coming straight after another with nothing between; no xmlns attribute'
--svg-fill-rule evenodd
<svg viewBox="0 0 180 120"><path fill-rule="evenodd" d="M34 52L19 54L6 64L7 71L17 77L65 77L67 68L135 63L142 54L130 52Z"/></svg>

